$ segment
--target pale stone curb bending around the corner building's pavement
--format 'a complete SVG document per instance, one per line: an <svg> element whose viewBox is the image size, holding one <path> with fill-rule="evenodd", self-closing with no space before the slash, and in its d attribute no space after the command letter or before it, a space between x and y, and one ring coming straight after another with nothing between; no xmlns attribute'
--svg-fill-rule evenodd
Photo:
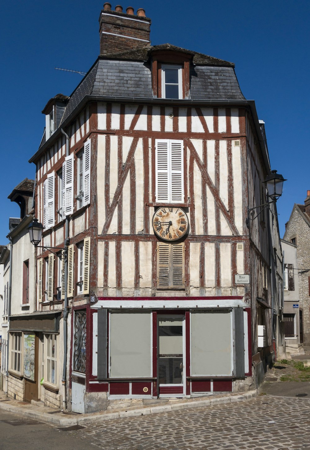
<svg viewBox="0 0 310 450"><path fill-rule="evenodd" d="M149 408L139 408L137 410L128 411L115 411L112 413L103 414L91 414L88 416L75 416L70 419L55 417L53 414L31 411L26 407L4 405L0 403L0 410L19 414L31 419L38 420L40 422L51 423L53 425L61 425L63 427L69 427L73 425L88 425L94 422L103 422L106 420L124 419L127 417L147 416L150 414L171 413L173 411L193 409L193 408L206 408L210 406L225 405L228 403L237 403L239 401L247 401L257 396L257 389L254 391L244 392L235 396L227 397L215 397L207 400L196 400L187 403L176 403L174 405L160 405L152 406ZM30 406L30 405L29 405Z"/></svg>

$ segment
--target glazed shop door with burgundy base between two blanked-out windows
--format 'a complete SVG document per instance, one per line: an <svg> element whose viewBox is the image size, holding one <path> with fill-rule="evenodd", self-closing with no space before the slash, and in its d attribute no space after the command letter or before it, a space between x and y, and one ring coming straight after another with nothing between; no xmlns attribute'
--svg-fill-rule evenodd
<svg viewBox="0 0 310 450"><path fill-rule="evenodd" d="M158 316L159 396L185 395L185 317Z"/></svg>

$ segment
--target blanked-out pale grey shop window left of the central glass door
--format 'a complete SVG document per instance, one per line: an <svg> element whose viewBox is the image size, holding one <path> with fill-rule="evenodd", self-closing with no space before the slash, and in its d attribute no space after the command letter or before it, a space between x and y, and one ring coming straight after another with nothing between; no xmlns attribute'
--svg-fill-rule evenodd
<svg viewBox="0 0 310 450"><path fill-rule="evenodd" d="M151 313L110 313L110 378L152 376Z"/></svg>

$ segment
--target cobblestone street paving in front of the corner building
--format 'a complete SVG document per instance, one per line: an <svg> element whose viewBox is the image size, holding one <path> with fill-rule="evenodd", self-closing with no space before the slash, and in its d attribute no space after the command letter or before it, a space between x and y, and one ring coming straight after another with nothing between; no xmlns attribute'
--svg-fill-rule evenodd
<svg viewBox="0 0 310 450"><path fill-rule="evenodd" d="M310 449L310 401L258 396L235 404L111 420L69 433L104 450L303 450Z"/></svg>

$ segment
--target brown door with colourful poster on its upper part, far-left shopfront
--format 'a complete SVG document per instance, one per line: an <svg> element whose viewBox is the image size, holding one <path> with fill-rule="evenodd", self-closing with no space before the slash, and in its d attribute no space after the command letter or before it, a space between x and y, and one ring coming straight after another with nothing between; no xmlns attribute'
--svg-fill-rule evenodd
<svg viewBox="0 0 310 450"><path fill-rule="evenodd" d="M37 334L24 335L23 364L25 377L25 401L38 401L39 337Z"/></svg>

